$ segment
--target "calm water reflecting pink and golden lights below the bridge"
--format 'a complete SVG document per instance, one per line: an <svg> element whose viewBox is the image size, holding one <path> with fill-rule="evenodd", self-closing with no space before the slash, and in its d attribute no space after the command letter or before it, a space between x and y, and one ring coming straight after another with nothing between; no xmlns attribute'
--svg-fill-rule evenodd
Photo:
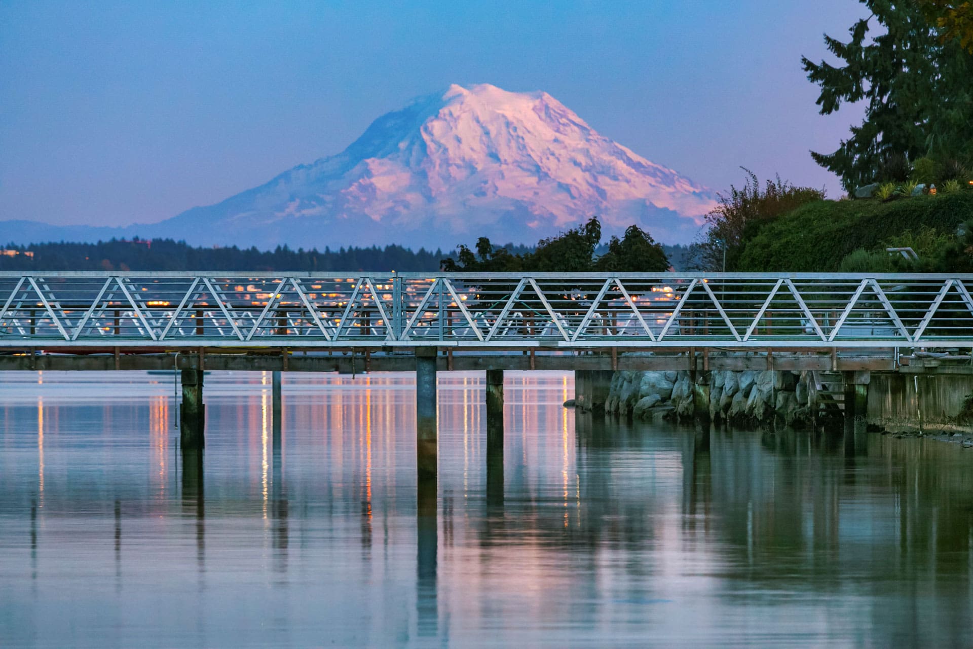
<svg viewBox="0 0 973 649"><path fill-rule="evenodd" d="M0 646L973 646L973 451L593 420L440 376L417 493L409 375L0 375ZM856 444L852 447L851 443ZM496 484L496 476L491 484Z"/></svg>

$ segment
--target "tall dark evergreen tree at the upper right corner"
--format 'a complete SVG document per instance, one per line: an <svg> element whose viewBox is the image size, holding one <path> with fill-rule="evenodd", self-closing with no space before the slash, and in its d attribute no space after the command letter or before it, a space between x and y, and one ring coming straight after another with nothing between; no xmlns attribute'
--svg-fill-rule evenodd
<svg viewBox="0 0 973 649"><path fill-rule="evenodd" d="M872 15L852 25L850 40L824 37L844 65L802 57L808 79L821 89L821 114L846 101L866 102L865 120L837 151L811 153L849 192L873 182L892 156L967 158L973 142L973 56L958 39L940 38L916 0L860 1ZM884 29L874 38L873 23Z"/></svg>

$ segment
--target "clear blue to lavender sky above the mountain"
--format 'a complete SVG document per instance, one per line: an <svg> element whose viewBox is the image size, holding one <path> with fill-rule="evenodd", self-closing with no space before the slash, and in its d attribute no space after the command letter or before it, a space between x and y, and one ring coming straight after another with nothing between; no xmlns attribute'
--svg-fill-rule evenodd
<svg viewBox="0 0 973 649"><path fill-rule="evenodd" d="M840 194L801 54L854 0L0 3L0 220L124 225L340 152L451 83L547 90L704 185Z"/></svg>

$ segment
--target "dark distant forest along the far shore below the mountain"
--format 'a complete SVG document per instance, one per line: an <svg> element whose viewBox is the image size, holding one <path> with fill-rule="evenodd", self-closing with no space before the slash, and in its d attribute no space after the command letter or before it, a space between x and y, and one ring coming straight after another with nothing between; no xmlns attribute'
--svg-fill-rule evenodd
<svg viewBox="0 0 973 649"><path fill-rule="evenodd" d="M512 254L523 254L533 246L507 244ZM676 270L684 269L687 246L663 246ZM601 250L604 248L604 250ZM14 254L14 252L18 254ZM598 253L607 246L598 248ZM24 253L33 253L28 256ZM292 250L277 246L261 251L205 248L172 239L111 239L97 243L51 242L27 246L8 245L0 254L0 270L439 270L440 262L455 255L442 250L420 248L413 252L398 245L384 248L339 248Z"/></svg>

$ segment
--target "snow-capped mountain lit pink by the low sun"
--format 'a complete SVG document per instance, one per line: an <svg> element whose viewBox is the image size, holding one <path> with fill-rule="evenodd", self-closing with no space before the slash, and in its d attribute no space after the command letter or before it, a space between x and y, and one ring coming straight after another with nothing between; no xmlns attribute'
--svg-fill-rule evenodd
<svg viewBox="0 0 973 649"><path fill-rule="evenodd" d="M635 223L681 242L714 204L546 92L450 86L379 117L336 156L126 230L198 244L451 249L482 235L534 243L597 215L606 234Z"/></svg>

